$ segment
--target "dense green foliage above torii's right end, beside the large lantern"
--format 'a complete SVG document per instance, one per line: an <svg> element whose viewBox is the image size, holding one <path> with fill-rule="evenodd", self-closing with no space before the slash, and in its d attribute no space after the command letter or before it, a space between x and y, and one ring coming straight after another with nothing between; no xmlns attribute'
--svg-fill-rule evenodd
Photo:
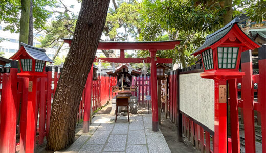
<svg viewBox="0 0 266 153"><path fill-rule="evenodd" d="M204 36L221 27L226 11L216 1L144 0L140 13L143 20L139 40L183 40L174 50L162 50L157 56L173 58L173 63L186 67L194 64L196 59L190 54L203 44Z"/></svg>

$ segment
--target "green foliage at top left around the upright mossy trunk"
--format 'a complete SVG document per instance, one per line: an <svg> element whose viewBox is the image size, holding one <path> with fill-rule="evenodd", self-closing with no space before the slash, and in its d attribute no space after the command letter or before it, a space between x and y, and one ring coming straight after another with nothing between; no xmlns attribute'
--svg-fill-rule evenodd
<svg viewBox="0 0 266 153"><path fill-rule="evenodd" d="M51 17L52 12L49 7L54 7L56 0L42 1L33 0L33 26L35 29L43 29L47 19ZM8 23L4 30L10 32L19 32L21 15L21 1L6 0L0 3L0 21Z"/></svg>

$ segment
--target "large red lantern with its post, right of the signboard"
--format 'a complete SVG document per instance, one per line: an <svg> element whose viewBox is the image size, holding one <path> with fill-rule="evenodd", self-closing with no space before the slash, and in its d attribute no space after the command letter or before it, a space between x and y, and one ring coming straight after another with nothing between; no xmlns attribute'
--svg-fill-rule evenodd
<svg viewBox="0 0 266 153"><path fill-rule="evenodd" d="M214 152L227 152L227 80L230 80L230 89L235 88L235 78L241 78L245 73L239 72L241 53L245 50L258 48L238 26L239 19L225 25L225 27L206 37L204 44L192 55L200 55L204 73L202 78L214 79L215 82L215 117L214 117ZM235 108L237 96L232 93L232 107ZM231 101L231 100L230 100ZM237 108L231 110L238 114ZM231 115L232 116L232 115ZM234 116L232 129L238 126L238 115ZM232 152L239 152L239 133L232 135Z"/></svg>

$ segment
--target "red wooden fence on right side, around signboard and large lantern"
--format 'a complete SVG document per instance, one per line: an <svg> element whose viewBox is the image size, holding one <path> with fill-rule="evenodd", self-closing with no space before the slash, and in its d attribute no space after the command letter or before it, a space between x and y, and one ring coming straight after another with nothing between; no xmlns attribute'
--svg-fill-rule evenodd
<svg viewBox="0 0 266 153"><path fill-rule="evenodd" d="M247 51L249 52L249 51ZM245 76L241 79L228 80L228 105L230 105L230 130L231 135L228 136L228 152L240 152L240 136L239 136L239 121L238 109L241 108L241 118L243 118L244 133L245 133L245 152L253 152L261 150L256 148L259 145L255 140L255 115L254 111L258 112L258 124L261 123L261 136L262 136L262 152L266 152L266 46L263 45L259 48L259 74L253 75L251 54L249 54L250 62L241 63L241 71L245 72ZM197 65L197 68L200 66ZM176 119L179 116L178 110L178 86L179 86L179 73L181 71L194 71L195 66L187 69L172 71L168 75L168 116L169 118L178 123ZM196 70L200 72L199 70ZM203 70L201 70L203 71ZM237 88L237 84L241 83L241 88ZM257 89L254 89L257 86ZM238 94L237 94L238 92ZM239 92L241 98L238 98ZM257 92L258 99L254 99L254 92ZM193 94L193 92L191 92ZM177 112L176 112L177 111ZM244 115L243 115L244 114ZM261 116L261 120L260 120ZM229 116L228 116L229 117ZM183 135L201 150L201 152L212 152L212 143L214 142L214 133L209 133L197 123L195 123L189 116L182 115L182 131ZM257 126L259 128L259 126ZM229 127L228 127L229 128ZM182 136L182 135L181 135Z"/></svg>

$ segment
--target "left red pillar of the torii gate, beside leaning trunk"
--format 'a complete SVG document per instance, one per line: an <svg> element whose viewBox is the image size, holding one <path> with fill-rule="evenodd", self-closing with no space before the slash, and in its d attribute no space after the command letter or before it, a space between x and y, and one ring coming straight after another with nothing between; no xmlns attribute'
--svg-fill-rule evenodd
<svg viewBox="0 0 266 153"><path fill-rule="evenodd" d="M92 85L93 85L92 83L93 83L93 64L90 73L88 73L88 78L85 85L83 133L88 133L88 130L90 128L91 97L92 97Z"/></svg>

